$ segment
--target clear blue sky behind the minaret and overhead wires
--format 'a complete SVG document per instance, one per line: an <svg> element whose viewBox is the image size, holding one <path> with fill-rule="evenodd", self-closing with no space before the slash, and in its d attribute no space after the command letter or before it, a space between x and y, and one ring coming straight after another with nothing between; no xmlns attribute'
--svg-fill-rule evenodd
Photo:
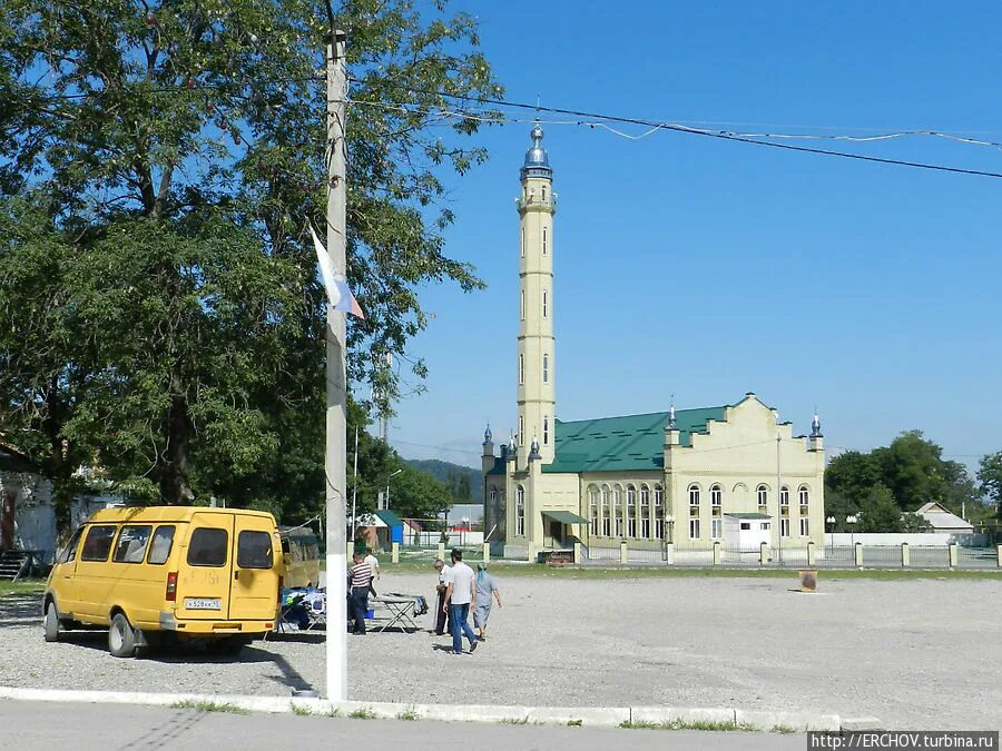
<svg viewBox="0 0 1002 751"><path fill-rule="evenodd" d="M1002 141L995 2L466 7L512 101L753 132ZM412 353L428 391L396 405L390 429L404 456L479 465L484 423L497 439L515 422L513 198L530 127L484 131L491 160L450 180L448 251L488 289L425 290L434 319ZM543 127L559 195L559 418L754 391L805 433L816 405L833 448L920 428L972 465L1002 449L1002 179ZM1002 172L1002 150L942 139L805 145Z"/></svg>

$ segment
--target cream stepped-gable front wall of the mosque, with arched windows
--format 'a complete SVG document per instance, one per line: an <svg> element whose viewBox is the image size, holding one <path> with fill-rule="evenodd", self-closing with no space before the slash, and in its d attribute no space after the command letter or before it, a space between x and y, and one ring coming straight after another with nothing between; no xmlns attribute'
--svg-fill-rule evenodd
<svg viewBox="0 0 1002 751"><path fill-rule="evenodd" d="M805 546L824 541L824 451L808 451L808 438L794 437L793 426L776 424L776 412L754 396L728 407L726 422L710 422L708 434L692 435L692 446L666 449L669 513L675 517L677 544L710 544L715 484L723 490L723 513L757 513L757 488L767 488L767 511L773 545L779 543L780 513L777 474L789 490L789 536L784 545ZM777 457L777 441L778 457ZM819 444L819 442L818 442ZM777 463L778 458L778 463ZM699 538L689 537L689 488L699 488ZM800 535L798 491L807 488L808 534Z"/></svg>

